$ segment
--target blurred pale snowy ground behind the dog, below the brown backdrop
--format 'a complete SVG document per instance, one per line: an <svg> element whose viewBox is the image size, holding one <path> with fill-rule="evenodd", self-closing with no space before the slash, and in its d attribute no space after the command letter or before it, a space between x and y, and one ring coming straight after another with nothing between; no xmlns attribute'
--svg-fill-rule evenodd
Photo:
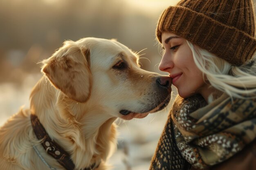
<svg viewBox="0 0 256 170"><path fill-rule="evenodd" d="M0 126L20 106L29 107L29 94L41 77L29 75L22 84L2 83L0 84ZM109 159L112 170L147 170L150 159L157 146L158 139L164 127L167 111L150 114L144 119L123 121L118 119L118 149Z"/></svg>

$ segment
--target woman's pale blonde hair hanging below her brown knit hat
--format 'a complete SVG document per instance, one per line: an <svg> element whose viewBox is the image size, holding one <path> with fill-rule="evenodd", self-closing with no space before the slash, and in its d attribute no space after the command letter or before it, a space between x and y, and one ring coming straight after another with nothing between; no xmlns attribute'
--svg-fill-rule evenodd
<svg viewBox="0 0 256 170"><path fill-rule="evenodd" d="M234 66L209 51L193 45L192 42L187 41L187 43L193 53L196 66L211 86L231 98L256 98L256 73L255 68L250 66L253 63ZM213 100L213 95L210 95L208 102Z"/></svg>

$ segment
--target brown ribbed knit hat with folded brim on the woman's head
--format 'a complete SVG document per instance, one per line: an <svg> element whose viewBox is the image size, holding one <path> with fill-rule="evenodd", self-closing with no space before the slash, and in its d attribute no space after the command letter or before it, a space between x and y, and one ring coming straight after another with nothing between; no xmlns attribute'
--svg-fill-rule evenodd
<svg viewBox="0 0 256 170"><path fill-rule="evenodd" d="M161 43L166 31L238 66L256 51L251 0L181 0L159 18L156 36Z"/></svg>

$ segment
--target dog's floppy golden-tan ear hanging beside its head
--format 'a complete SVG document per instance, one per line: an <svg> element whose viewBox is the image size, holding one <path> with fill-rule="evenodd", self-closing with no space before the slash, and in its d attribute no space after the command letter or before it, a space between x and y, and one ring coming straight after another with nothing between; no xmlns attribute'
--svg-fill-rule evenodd
<svg viewBox="0 0 256 170"><path fill-rule="evenodd" d="M77 102L89 99L92 86L89 49L65 41L43 64L41 71L57 89Z"/></svg>

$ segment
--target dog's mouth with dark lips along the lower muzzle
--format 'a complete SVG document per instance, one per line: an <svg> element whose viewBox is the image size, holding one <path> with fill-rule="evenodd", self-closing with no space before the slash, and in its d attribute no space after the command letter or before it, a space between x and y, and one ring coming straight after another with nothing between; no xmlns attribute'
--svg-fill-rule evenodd
<svg viewBox="0 0 256 170"><path fill-rule="evenodd" d="M150 111L146 110L145 112L142 112L142 113L136 113L136 112L132 112L130 110L120 110L119 113L121 113L123 115L121 118L125 119L125 120L130 120L133 118L141 119L141 118L146 117L149 113L155 113L155 112L158 112L158 111L162 110L163 108L165 108L168 105L168 103L170 102L170 99L171 99L171 95L169 95L164 100L164 102L160 103L157 107L153 108Z"/></svg>

